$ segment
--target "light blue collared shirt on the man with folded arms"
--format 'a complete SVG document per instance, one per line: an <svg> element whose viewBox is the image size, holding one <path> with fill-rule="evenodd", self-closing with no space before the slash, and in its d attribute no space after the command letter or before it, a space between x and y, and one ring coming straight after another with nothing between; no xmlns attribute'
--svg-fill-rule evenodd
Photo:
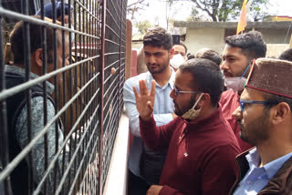
<svg viewBox="0 0 292 195"><path fill-rule="evenodd" d="M172 68L171 68L172 69ZM172 113L174 110L174 104L170 94L174 85L175 72L172 69L172 76L170 77L168 83L161 87L156 83L155 89L155 101L153 108L153 117L158 126L162 126L172 121ZM136 108L136 99L133 92L133 87L139 90L139 80L145 80L146 85L151 89L151 80L153 77L150 72L141 73L136 77L130 77L124 84L123 88L123 98L129 117L129 128L130 132L134 135L134 139L130 148L129 154L129 169L132 173L141 177L140 173L140 159L143 149L143 142L140 134L139 127L139 112Z"/></svg>

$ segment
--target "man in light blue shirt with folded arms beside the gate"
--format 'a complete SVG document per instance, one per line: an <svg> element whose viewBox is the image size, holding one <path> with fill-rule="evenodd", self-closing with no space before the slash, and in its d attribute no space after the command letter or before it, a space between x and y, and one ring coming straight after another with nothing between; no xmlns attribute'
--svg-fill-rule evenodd
<svg viewBox="0 0 292 195"><path fill-rule="evenodd" d="M130 77L125 82L123 89L124 103L130 120L130 132L134 136L128 161L130 195L144 195L152 184L159 182L167 152L151 151L143 143L139 127L139 113L132 88L137 87L139 90L139 80L146 80L147 86L151 88L151 80L154 79L156 95L153 117L157 125L167 124L176 117L170 97L175 77L175 72L170 67L170 59L174 54L172 36L162 27L151 28L143 37L143 49L148 72Z"/></svg>

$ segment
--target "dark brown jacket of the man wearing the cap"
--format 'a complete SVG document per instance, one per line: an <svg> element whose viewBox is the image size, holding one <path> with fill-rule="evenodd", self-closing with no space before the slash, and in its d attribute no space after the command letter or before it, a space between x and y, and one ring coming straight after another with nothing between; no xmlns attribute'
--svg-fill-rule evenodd
<svg viewBox="0 0 292 195"><path fill-rule="evenodd" d="M245 156L250 150L245 151L236 158L239 170L236 175L235 184L229 191L229 195L233 194L238 183L245 178L245 174L249 169L249 165ZM258 195L262 194L281 194L292 195L292 157L288 159L284 165L276 172L276 175L266 184L263 190Z"/></svg>

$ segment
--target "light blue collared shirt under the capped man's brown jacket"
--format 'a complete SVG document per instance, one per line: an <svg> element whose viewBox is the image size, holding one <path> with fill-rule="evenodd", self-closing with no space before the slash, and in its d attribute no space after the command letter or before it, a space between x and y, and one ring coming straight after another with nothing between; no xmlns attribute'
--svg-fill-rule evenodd
<svg viewBox="0 0 292 195"><path fill-rule="evenodd" d="M240 181L234 195L254 195L262 190L269 180L271 180L276 171L282 167L282 165L292 157L292 152L287 155L275 159L261 168L258 168L260 163L260 156L257 153L256 148L249 151L245 156L249 164L249 170L247 171L245 178Z"/></svg>

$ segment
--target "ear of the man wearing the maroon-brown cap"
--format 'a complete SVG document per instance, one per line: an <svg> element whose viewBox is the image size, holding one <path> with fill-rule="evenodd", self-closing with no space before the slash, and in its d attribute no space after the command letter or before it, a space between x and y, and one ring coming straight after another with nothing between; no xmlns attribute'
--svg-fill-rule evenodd
<svg viewBox="0 0 292 195"><path fill-rule="evenodd" d="M281 102L270 110L270 117L273 125L282 123L291 115L291 110L286 102Z"/></svg>

